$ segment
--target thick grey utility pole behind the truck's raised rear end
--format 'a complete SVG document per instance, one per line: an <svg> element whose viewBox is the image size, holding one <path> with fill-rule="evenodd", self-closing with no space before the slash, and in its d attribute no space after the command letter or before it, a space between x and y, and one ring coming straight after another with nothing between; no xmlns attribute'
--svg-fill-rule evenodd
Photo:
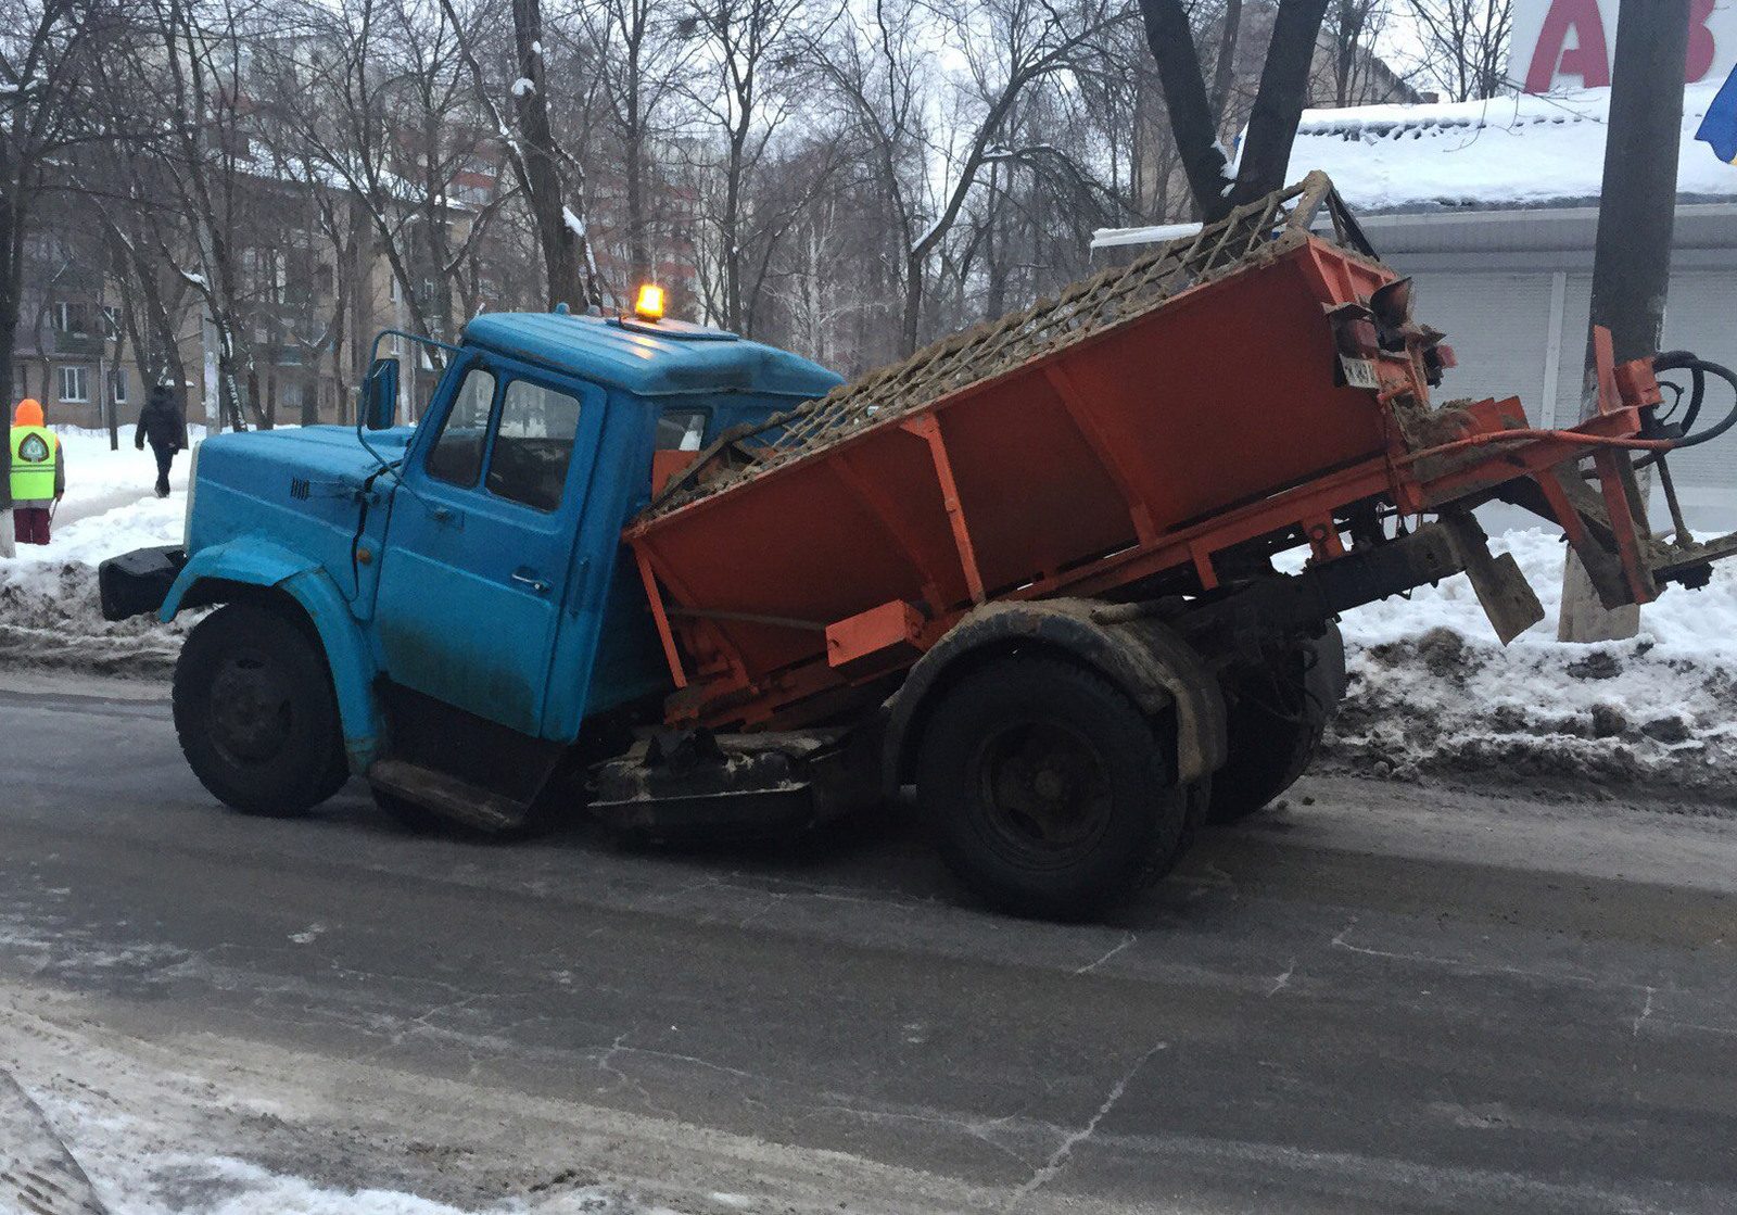
<svg viewBox="0 0 1737 1215"><path fill-rule="evenodd" d="M1610 127L1593 252L1591 323L1610 330L1615 358L1659 353L1671 287L1676 224L1676 153L1683 137L1683 75L1690 0L1622 0L1610 71ZM1598 412L1591 330L1581 417ZM1652 478L1641 481L1641 499ZM1607 612L1570 551L1562 582L1563 641L1610 641L1640 631L1640 607Z"/></svg>

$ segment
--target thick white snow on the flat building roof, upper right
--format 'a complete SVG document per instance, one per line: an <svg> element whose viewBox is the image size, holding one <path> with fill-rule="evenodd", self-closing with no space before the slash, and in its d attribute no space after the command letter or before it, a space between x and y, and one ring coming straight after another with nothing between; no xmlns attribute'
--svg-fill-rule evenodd
<svg viewBox="0 0 1737 1215"><path fill-rule="evenodd" d="M1678 196L1737 198L1737 165L1695 141L1720 82L1683 92ZM1499 209L1598 198L1608 89L1419 106L1304 110L1287 181L1324 169L1355 210Z"/></svg>

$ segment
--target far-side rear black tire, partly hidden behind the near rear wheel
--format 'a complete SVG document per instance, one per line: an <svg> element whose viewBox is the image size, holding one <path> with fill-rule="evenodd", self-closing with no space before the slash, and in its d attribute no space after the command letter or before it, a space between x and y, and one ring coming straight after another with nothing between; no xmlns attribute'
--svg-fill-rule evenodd
<svg viewBox="0 0 1737 1215"><path fill-rule="evenodd" d="M1334 624L1226 688L1228 758L1212 773L1207 822L1247 819L1296 784L1343 695L1344 640Z"/></svg>

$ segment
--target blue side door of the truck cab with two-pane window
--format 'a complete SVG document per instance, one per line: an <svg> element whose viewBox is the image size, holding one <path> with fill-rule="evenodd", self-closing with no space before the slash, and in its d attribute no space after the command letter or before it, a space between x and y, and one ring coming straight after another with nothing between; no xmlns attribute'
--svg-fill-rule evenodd
<svg viewBox="0 0 1737 1215"><path fill-rule="evenodd" d="M500 358L455 370L405 461L375 622L393 681L538 734L604 393Z"/></svg>

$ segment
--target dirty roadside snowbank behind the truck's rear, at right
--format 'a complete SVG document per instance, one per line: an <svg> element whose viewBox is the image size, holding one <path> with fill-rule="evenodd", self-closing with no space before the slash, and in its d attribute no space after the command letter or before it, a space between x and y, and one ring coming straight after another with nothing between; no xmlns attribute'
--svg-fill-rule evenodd
<svg viewBox="0 0 1737 1215"><path fill-rule="evenodd" d="M1464 577L1348 612L1351 687L1329 756L1377 775L1417 772L1621 780L1728 798L1737 760L1737 570L1671 588L1628 641L1556 640L1563 544L1496 535L1544 605L1503 647Z"/></svg>

